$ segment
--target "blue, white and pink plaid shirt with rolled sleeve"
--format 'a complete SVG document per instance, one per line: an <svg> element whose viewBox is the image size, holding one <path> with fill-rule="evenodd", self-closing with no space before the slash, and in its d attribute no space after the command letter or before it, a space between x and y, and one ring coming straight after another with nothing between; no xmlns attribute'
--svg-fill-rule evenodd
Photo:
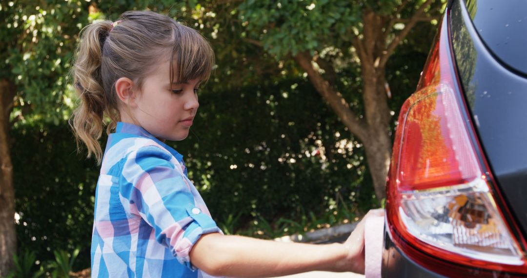
<svg viewBox="0 0 527 278"><path fill-rule="evenodd" d="M187 177L183 156L119 122L95 193L92 277L207 277L190 263L199 237L220 232Z"/></svg>

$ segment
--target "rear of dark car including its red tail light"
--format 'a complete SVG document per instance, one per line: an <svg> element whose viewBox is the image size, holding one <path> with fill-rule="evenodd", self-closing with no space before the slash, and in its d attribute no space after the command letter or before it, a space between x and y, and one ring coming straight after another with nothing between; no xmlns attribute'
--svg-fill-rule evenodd
<svg viewBox="0 0 527 278"><path fill-rule="evenodd" d="M525 49L526 1L448 3L398 118L384 277L527 276Z"/></svg>

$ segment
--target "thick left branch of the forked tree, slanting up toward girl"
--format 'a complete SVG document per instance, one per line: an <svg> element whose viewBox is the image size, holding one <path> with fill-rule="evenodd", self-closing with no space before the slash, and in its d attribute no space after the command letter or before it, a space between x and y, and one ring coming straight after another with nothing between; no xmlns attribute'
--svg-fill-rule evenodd
<svg viewBox="0 0 527 278"><path fill-rule="evenodd" d="M324 80L318 71L313 68L311 61L313 58L308 52L300 52L295 56L295 60L302 67L309 76L311 83L315 86L317 92L329 103L331 108L335 111L348 128L349 131L358 137L359 140L364 141L367 138L366 124L358 120L356 114L349 108L349 104L344 97L336 92L329 83Z"/></svg>

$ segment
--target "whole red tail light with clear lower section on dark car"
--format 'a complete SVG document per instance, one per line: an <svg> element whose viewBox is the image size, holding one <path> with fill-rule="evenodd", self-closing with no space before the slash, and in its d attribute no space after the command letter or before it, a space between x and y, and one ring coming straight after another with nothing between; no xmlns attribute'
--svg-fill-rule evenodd
<svg viewBox="0 0 527 278"><path fill-rule="evenodd" d="M473 139L447 31L445 17L418 91L399 115L387 183L389 229L406 255L445 276L527 274L523 239L504 221Z"/></svg>

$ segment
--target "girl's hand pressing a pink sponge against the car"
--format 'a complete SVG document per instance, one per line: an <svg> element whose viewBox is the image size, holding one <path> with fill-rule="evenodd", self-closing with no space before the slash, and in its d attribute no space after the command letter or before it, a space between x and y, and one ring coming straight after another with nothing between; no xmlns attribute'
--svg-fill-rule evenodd
<svg viewBox="0 0 527 278"><path fill-rule="evenodd" d="M370 210L357 224L355 230L344 243L347 250L346 271L364 274L364 225L368 217L384 216L384 209Z"/></svg>

